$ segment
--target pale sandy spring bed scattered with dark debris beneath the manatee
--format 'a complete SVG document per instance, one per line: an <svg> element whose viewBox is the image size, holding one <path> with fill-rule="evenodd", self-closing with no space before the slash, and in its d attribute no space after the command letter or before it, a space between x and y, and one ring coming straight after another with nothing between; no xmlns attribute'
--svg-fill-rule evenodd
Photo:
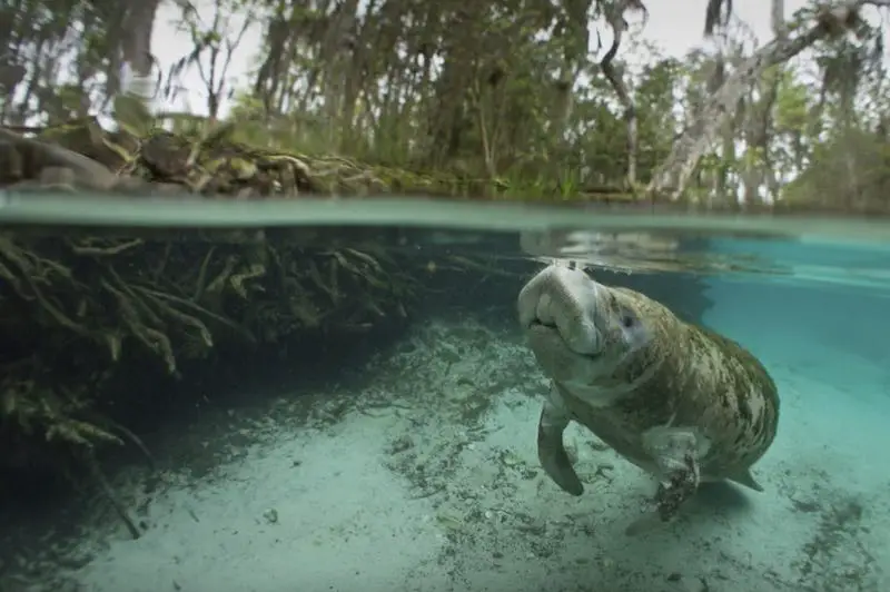
<svg viewBox="0 0 890 592"><path fill-rule="evenodd" d="M784 395L767 491L712 486L635 537L654 484L573 426L586 492L560 491L536 458L531 354L463 319L416 328L360 388L171 435L150 494L140 470L119 480L141 539L97 502L31 561L96 592L890 590L888 375L807 346L761 354Z"/></svg>

